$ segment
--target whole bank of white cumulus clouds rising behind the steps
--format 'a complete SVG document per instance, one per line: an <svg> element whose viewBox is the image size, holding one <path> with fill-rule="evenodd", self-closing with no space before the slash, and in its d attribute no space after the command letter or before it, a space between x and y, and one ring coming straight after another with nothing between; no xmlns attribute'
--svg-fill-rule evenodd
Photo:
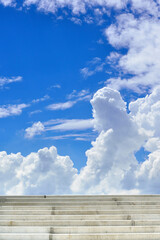
<svg viewBox="0 0 160 240"><path fill-rule="evenodd" d="M68 156L57 154L55 147L26 157L0 152L0 193L159 193L159 91L155 88L146 97L131 102L130 112L117 90L104 87L95 93L91 100L92 121L99 136L86 151L87 162L80 173ZM52 128L54 124L64 122L53 120L44 126ZM32 127L33 135L44 130L40 122ZM81 134L75 137L81 138ZM149 154L139 163L135 153L142 147Z"/></svg>

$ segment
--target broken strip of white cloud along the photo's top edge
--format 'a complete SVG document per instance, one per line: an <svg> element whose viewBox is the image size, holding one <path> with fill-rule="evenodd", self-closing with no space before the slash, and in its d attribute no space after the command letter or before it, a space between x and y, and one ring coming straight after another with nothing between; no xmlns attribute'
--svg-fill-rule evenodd
<svg viewBox="0 0 160 240"><path fill-rule="evenodd" d="M25 0L24 6L36 5L39 11L51 12L55 14L58 9L68 8L74 15L85 14L88 9L104 8L106 10L114 8L116 10L126 9L131 5L132 11L138 13L148 13L153 16L158 15L159 1L155 0ZM104 11L103 9L103 11ZM99 9L96 9L99 10ZM100 10L99 10L100 11ZM89 22L90 23L90 22Z"/></svg>

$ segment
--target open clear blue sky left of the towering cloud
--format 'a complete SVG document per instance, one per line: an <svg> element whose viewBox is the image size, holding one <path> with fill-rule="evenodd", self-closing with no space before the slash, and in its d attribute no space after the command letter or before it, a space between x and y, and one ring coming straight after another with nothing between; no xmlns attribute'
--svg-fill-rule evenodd
<svg viewBox="0 0 160 240"><path fill-rule="evenodd" d="M32 104L18 117L1 119L1 150L8 153L20 151L26 155L44 146L55 145L60 154L71 155L77 167L82 166L90 141L75 141L72 138L44 140L43 137L28 140L24 138L24 129L35 121L92 117L89 101L79 102L64 111L48 111L45 107L51 103L65 102L73 90L79 92L85 89L93 94L99 88L99 79L105 80L105 73L86 79L80 72L94 57L105 57L106 47L97 43L103 38L102 28L56 20L50 14L34 9L15 11L14 8L1 6L0 16L0 30L3 33L0 39L1 76L22 76L21 82L1 89L1 105L29 104L33 99L45 95L49 97L44 102ZM36 110L43 112L30 115ZM49 135L57 134L64 133Z"/></svg>

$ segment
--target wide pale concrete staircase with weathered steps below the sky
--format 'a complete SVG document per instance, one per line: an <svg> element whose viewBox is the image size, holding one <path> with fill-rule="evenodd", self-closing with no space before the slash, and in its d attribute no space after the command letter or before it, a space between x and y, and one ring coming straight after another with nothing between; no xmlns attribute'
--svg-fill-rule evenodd
<svg viewBox="0 0 160 240"><path fill-rule="evenodd" d="M160 240L160 195L1 196L0 240Z"/></svg>

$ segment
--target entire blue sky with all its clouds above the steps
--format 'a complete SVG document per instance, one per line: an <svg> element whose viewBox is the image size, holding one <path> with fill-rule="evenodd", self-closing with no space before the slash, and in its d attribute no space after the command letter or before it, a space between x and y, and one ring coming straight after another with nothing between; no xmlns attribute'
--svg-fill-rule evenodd
<svg viewBox="0 0 160 240"><path fill-rule="evenodd" d="M159 193L159 7L1 1L1 194Z"/></svg>

